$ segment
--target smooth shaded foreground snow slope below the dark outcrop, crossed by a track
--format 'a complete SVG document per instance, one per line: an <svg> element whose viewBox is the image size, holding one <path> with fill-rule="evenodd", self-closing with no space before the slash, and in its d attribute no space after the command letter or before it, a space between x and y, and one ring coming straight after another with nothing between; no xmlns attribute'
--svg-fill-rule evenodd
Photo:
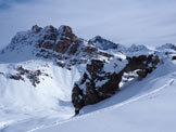
<svg viewBox="0 0 176 132"><path fill-rule="evenodd" d="M113 97L85 107L81 113L88 114L36 132L175 132L175 88L176 62L166 62Z"/></svg>

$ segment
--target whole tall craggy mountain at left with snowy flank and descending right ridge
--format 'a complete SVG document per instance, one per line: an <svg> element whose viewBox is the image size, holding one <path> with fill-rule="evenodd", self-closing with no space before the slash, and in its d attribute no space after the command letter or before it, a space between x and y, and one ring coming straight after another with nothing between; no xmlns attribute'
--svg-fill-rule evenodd
<svg viewBox="0 0 176 132"><path fill-rule="evenodd" d="M12 57L8 58L9 52ZM3 50L3 60L26 60L42 57L56 62L61 67L71 69L73 65L85 64L88 60L103 57L110 60L112 54L100 50L78 38L70 26L55 28L51 25L35 25L27 31L17 32L11 43Z"/></svg>

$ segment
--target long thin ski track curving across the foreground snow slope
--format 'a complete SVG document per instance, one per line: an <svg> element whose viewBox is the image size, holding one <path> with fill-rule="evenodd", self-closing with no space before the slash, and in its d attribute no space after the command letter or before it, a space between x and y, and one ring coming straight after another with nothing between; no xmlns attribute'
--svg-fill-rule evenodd
<svg viewBox="0 0 176 132"><path fill-rule="evenodd" d="M174 76L174 75L173 75ZM48 129L48 128L52 128L52 127L56 127L56 126L61 126L63 123L66 123L66 122L70 122L70 121L75 121L77 119L80 119L80 118L86 118L86 117L89 117L89 116L93 116L96 114L99 114L99 113L102 113L102 111L108 111L108 110L111 110L111 109L115 109L115 108L118 108L118 107L123 107L125 105L128 105L128 104L131 104L134 102L137 102L141 98L144 98L147 96L150 96L150 95L153 95L155 93L159 93L161 92L162 90L166 89L167 87L172 85L175 81L175 78L173 77L166 84L164 84L163 87L160 87L149 93L146 93L146 94L142 94L142 95L139 95L138 97L135 97L135 98L131 98L129 101L125 101L124 103L121 103L121 104L117 104L117 105L114 105L114 106L110 106L110 107L106 107L106 108L102 108L100 110L96 110L96 111L92 111L92 113L89 113L89 114L85 114L85 115L80 115L80 116L77 116L77 117L72 117L71 119L68 120L65 120L65 121L59 121L59 122L55 122L54 124L51 124L51 126L40 126L40 127L37 127L37 128L34 128L33 130L29 130L27 132L35 132L35 131L38 131L38 130L42 130L42 129Z"/></svg>

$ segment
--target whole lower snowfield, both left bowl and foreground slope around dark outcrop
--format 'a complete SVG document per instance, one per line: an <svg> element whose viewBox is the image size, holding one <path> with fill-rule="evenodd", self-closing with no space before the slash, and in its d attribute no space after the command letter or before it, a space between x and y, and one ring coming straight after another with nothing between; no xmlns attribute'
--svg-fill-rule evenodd
<svg viewBox="0 0 176 132"><path fill-rule="evenodd" d="M0 130L2 132L176 131L175 61L160 64L158 69L143 80L130 81L111 98L83 108L77 117L74 117L71 103L71 88L79 78L80 72L76 67L70 71L50 63L47 64L50 68L46 67L46 62L42 61L23 63L25 68L32 69L40 65L41 69L52 75L53 79L46 79L47 81L36 89L25 87L23 82L14 89L10 85L15 85L15 81L9 83L0 76L3 80L2 85L5 87L4 91L1 90L0 97ZM12 67L17 64L1 64L1 70L5 71L3 67L7 66L3 65L10 65L13 70ZM14 96L11 96L12 100L8 100L7 103L8 94Z"/></svg>

